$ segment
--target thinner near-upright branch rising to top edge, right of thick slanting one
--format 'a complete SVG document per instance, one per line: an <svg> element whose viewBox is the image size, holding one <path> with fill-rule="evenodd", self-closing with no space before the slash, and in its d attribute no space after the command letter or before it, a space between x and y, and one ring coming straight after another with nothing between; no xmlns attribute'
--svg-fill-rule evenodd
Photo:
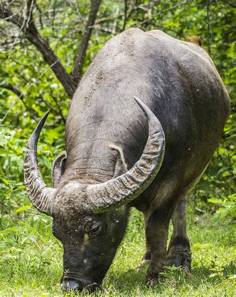
<svg viewBox="0 0 236 297"><path fill-rule="evenodd" d="M76 83L79 82L79 79L81 77L81 71L82 71L82 67L85 59L85 53L88 48L89 40L97 18L97 12L100 4L101 4L101 0L91 0L91 11L90 11L89 19L85 27L84 36L82 38L81 45L79 48L79 54L76 57L74 68L71 71L71 75L73 76L74 81Z"/></svg>

